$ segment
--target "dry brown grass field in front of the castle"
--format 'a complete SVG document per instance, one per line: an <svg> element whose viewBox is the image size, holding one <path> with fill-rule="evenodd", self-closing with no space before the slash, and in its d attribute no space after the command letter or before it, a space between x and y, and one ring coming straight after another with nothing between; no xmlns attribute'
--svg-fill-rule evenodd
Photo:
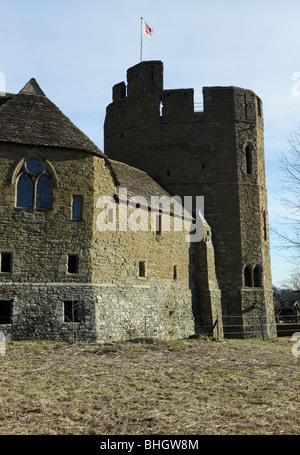
<svg viewBox="0 0 300 455"><path fill-rule="evenodd" d="M0 434L298 434L291 347L287 338L13 342L0 357Z"/></svg>

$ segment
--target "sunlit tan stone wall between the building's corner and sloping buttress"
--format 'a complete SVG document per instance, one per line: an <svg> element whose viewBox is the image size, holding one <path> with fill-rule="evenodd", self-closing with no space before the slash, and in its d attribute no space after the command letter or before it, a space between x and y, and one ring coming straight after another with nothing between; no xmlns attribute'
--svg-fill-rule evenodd
<svg viewBox="0 0 300 455"><path fill-rule="evenodd" d="M101 191L95 188L95 195ZM121 208L122 210L122 208ZM128 218L136 212L127 207ZM142 210L142 209L140 209ZM170 230L157 234L151 229L119 231L116 207L116 232L94 230L91 253L93 282L97 288L96 321L100 339L142 337L181 338L195 333L197 288L192 281L190 242L187 231ZM101 210L96 210L94 223ZM164 217L162 215L162 224ZM145 219L146 219L145 218ZM139 262L145 264L145 276L139 276ZM176 267L176 276L174 276Z"/></svg>

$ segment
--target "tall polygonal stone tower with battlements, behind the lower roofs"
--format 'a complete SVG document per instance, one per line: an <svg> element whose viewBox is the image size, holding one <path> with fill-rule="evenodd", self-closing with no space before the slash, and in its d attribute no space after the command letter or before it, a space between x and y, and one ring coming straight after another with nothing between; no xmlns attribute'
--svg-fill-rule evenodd
<svg viewBox="0 0 300 455"><path fill-rule="evenodd" d="M164 89L162 62L141 62L128 70L127 86L113 87L104 138L109 158L181 197L204 196L224 332L251 332L260 315L273 323L260 98L238 87L204 87L196 112L193 89Z"/></svg>

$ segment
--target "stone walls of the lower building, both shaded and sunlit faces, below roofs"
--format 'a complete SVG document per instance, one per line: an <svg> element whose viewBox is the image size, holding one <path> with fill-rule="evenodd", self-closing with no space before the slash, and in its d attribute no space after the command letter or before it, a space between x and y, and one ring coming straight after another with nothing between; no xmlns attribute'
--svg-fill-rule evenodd
<svg viewBox="0 0 300 455"><path fill-rule="evenodd" d="M53 170L52 210L16 207L18 169L30 157ZM115 194L104 158L2 145L0 181L0 254L12 253L11 272L0 273L0 304L11 302L10 323L0 324L7 337L93 342L194 333L187 233L99 231L98 198ZM82 196L81 219L72 219L72 195ZM78 255L78 273L68 273L68 254ZM65 320L64 302L76 305L76 321Z"/></svg>

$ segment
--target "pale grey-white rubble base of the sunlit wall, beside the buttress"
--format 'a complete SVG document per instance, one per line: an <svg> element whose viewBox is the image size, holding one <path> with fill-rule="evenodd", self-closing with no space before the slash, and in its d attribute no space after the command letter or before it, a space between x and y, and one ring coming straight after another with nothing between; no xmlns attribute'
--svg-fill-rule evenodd
<svg viewBox="0 0 300 455"><path fill-rule="evenodd" d="M100 340L136 337L184 338L195 333L191 291L174 284L132 284L97 288Z"/></svg>

